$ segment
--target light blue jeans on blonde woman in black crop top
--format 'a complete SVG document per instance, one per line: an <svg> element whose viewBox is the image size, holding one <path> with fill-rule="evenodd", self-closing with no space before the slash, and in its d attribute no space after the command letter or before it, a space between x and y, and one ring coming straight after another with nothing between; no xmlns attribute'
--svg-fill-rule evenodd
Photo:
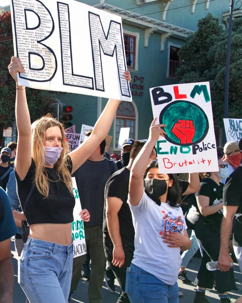
<svg viewBox="0 0 242 303"><path fill-rule="evenodd" d="M19 259L19 284L31 303L66 303L71 287L73 244L28 238Z"/></svg>

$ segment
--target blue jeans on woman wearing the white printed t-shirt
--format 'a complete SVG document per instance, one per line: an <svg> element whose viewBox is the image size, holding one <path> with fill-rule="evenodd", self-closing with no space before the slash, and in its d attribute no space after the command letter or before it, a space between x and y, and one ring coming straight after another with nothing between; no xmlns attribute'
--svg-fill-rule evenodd
<svg viewBox="0 0 242 303"><path fill-rule="evenodd" d="M125 291L131 303L179 303L177 282L166 284L134 264L127 268Z"/></svg>

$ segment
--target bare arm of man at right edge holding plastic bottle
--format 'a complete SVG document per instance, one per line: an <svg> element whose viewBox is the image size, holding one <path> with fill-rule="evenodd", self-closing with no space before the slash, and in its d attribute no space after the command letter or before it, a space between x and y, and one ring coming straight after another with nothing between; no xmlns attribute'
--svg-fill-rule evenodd
<svg viewBox="0 0 242 303"><path fill-rule="evenodd" d="M233 226L233 218L236 214L237 206L224 206L223 207L223 220L220 231L220 252L218 258L218 268L221 271L228 271L230 263L233 262L229 257L228 243Z"/></svg>

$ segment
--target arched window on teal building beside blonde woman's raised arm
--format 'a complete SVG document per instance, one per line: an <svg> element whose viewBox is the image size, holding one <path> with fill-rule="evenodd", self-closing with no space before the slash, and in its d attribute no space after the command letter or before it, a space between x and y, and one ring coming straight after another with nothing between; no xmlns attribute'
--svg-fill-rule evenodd
<svg viewBox="0 0 242 303"><path fill-rule="evenodd" d="M121 102L116 115L115 147L118 147L121 127L129 127L129 138L135 139L135 118L135 110L132 103L126 101Z"/></svg>

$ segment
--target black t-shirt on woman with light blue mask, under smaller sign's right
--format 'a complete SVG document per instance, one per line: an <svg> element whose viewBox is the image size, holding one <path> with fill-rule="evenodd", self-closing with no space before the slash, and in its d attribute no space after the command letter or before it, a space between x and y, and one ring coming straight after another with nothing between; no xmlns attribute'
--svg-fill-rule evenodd
<svg viewBox="0 0 242 303"><path fill-rule="evenodd" d="M200 190L195 193L195 196L204 195L209 197L209 206L216 205L223 201L223 183L218 185L214 180L211 178L204 178L200 183ZM209 215L204 217L201 213L199 219L204 221L213 220L214 223L218 225L221 223L223 218L223 209L216 212L215 214Z"/></svg>

